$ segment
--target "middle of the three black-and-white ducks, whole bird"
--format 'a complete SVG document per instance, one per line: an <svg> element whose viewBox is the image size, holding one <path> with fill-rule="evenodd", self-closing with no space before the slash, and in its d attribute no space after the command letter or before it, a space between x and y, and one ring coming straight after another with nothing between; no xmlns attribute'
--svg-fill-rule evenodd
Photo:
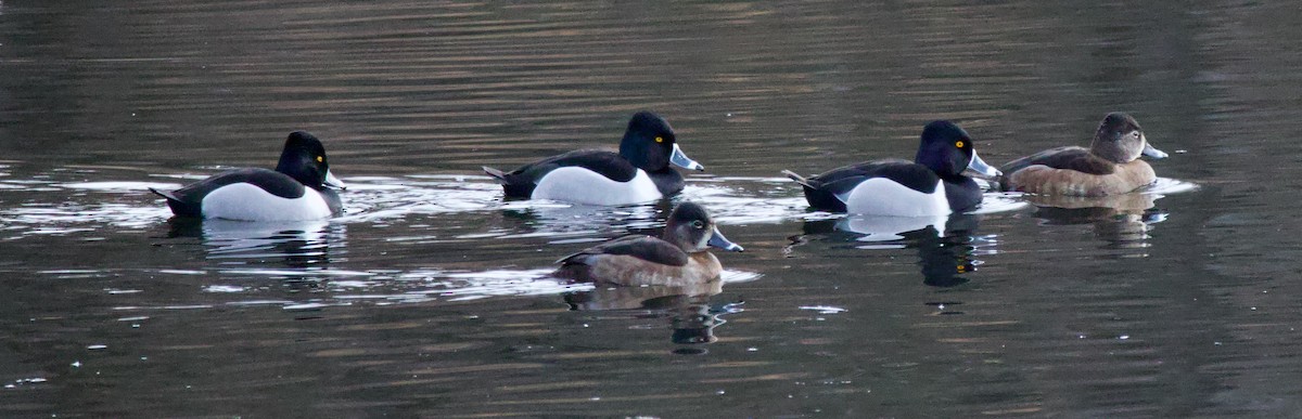
<svg viewBox="0 0 1302 419"><path fill-rule="evenodd" d="M503 185L506 198L624 206L682 191L682 174L671 164L690 170L706 169L682 152L668 121L643 111L629 120L618 154L578 150L512 172L491 167L483 170Z"/></svg>

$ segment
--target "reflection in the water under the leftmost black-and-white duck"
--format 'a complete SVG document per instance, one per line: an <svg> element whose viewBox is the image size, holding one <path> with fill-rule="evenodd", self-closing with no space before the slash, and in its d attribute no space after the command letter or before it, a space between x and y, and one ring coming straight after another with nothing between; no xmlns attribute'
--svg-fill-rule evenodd
<svg viewBox="0 0 1302 419"><path fill-rule="evenodd" d="M289 268L329 264L345 246L346 226L326 220L232 221L220 219L168 220L168 237L201 238L208 259L234 263L276 263Z"/></svg>

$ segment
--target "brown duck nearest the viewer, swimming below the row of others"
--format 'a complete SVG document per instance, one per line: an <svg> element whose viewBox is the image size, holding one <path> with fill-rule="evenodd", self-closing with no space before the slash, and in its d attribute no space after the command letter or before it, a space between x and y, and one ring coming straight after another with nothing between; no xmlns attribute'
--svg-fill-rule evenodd
<svg viewBox="0 0 1302 419"><path fill-rule="evenodd" d="M669 213L660 237L625 236L585 249L556 260L553 276L617 286L691 286L723 273L708 247L745 250L719 232L704 207L684 202Z"/></svg>

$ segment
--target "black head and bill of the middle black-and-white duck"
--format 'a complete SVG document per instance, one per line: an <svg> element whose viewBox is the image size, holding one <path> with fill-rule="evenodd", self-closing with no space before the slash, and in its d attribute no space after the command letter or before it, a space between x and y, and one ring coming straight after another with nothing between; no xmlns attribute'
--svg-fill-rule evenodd
<svg viewBox="0 0 1302 419"><path fill-rule="evenodd" d="M620 156L647 172L663 170L671 163L686 169L706 169L682 154L678 137L668 121L646 111L634 113L629 120L629 129L620 142Z"/></svg>

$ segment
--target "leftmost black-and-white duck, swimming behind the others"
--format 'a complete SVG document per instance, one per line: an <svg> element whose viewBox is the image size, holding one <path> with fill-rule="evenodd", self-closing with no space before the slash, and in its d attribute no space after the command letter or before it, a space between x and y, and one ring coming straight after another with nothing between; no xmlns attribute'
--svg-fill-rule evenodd
<svg viewBox="0 0 1302 419"><path fill-rule="evenodd" d="M167 199L178 217L297 221L342 213L335 189L345 187L331 173L320 139L307 131L293 131L285 138L275 170L241 168L177 190L150 187L150 191Z"/></svg>

